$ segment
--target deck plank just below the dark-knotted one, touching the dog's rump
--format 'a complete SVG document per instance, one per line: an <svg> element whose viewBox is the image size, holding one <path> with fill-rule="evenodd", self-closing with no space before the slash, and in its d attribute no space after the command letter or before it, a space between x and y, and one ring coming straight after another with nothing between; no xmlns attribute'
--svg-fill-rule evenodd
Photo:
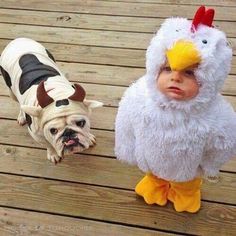
<svg viewBox="0 0 236 236"><path fill-rule="evenodd" d="M37 25L0 23L1 38L28 37L50 43L79 44L102 47L118 47L146 50L153 34L138 32L118 32L88 29L70 29ZM236 51L236 39L228 39Z"/></svg>

